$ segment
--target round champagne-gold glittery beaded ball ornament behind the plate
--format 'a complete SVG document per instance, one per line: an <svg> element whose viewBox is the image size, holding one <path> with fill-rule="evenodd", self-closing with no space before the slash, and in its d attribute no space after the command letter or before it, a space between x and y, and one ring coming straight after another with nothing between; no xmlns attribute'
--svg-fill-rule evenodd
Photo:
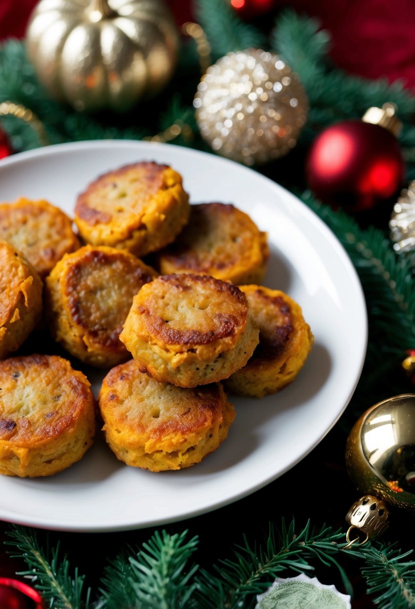
<svg viewBox="0 0 415 609"><path fill-rule="evenodd" d="M260 49L221 57L202 77L193 103L201 136L212 149L249 166L287 154L308 111L299 77Z"/></svg>

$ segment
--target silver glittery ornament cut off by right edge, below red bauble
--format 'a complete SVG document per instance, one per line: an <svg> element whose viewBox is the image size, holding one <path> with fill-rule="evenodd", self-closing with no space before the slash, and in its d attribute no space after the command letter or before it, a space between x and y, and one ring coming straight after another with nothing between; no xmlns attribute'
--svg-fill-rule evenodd
<svg viewBox="0 0 415 609"><path fill-rule="evenodd" d="M395 252L402 254L415 249L415 180L400 193L391 214L389 228Z"/></svg>

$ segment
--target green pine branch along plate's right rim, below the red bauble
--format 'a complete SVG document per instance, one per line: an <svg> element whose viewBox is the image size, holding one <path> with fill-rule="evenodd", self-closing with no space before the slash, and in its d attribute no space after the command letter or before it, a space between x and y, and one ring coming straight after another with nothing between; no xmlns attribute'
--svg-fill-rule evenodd
<svg viewBox="0 0 415 609"><path fill-rule="evenodd" d="M399 367L405 351L415 348L415 282L411 261L394 252L383 231L361 229L341 210L322 205L309 191L302 200L333 230L346 248L360 276L369 315L369 343L366 369L358 394L366 407L385 395L402 393L406 384ZM405 383L404 383L405 381ZM363 389L363 391L361 391Z"/></svg>

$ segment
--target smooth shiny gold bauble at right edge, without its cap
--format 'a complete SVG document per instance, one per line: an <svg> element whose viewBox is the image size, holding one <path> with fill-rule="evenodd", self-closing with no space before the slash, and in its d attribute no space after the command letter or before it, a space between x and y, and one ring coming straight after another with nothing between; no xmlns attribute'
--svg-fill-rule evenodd
<svg viewBox="0 0 415 609"><path fill-rule="evenodd" d="M361 493L415 513L415 395L372 406L355 423L346 466Z"/></svg>

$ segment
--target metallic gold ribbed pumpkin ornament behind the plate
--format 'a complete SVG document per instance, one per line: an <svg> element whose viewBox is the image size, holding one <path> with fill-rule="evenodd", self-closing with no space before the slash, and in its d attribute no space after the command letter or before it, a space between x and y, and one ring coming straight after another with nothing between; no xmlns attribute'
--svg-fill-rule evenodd
<svg viewBox="0 0 415 609"><path fill-rule="evenodd" d="M53 97L125 111L169 82L178 40L162 0L41 0L27 53Z"/></svg>

